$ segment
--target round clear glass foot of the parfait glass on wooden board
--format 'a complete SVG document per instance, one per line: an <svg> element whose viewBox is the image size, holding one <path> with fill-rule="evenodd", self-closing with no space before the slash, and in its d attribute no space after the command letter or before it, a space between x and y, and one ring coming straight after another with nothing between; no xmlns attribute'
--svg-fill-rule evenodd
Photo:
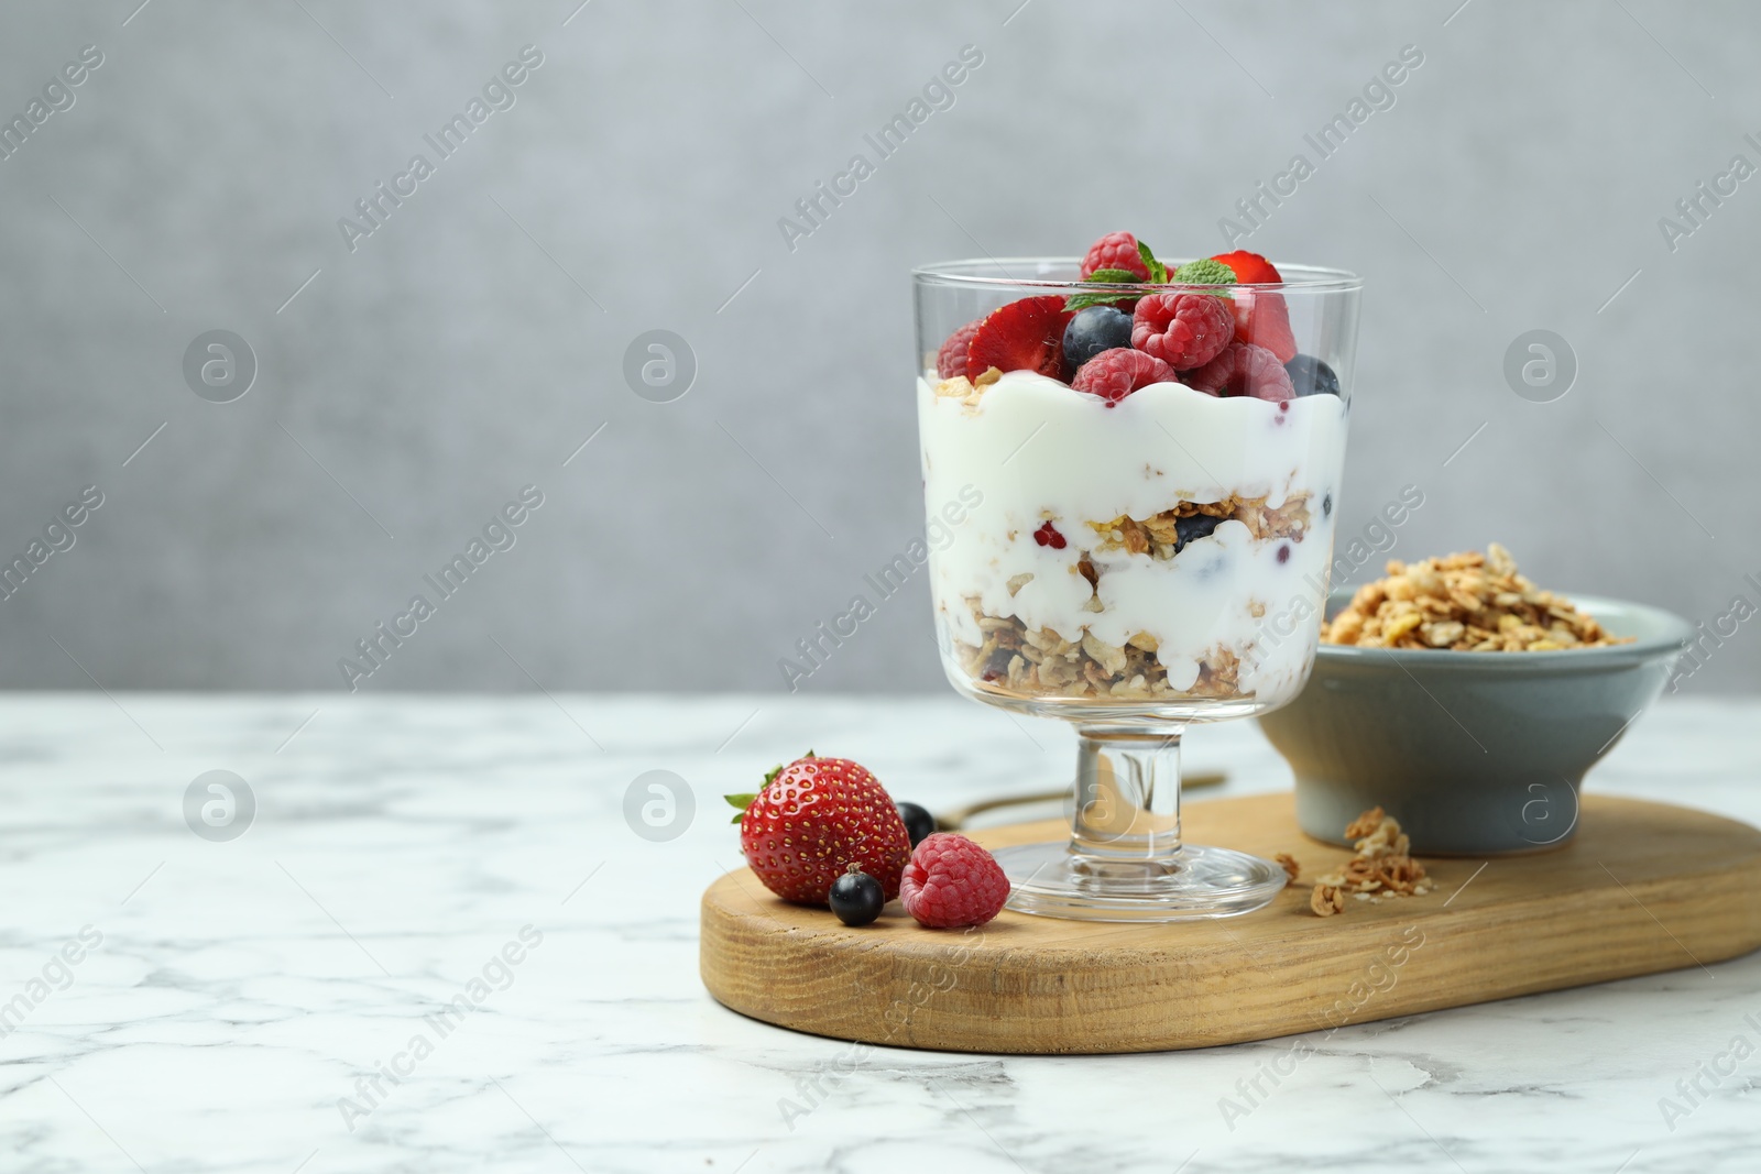
<svg viewBox="0 0 1761 1174"><path fill-rule="evenodd" d="M1067 840L998 848L1009 908L1076 921L1197 921L1250 914L1278 896L1284 868L1231 848L1182 845L1160 861L1076 855Z"/></svg>

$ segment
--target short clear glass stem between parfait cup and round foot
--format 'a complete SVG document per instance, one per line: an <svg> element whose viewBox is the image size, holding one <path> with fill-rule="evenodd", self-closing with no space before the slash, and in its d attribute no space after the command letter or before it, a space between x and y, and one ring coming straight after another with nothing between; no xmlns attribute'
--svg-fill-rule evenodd
<svg viewBox="0 0 1761 1174"><path fill-rule="evenodd" d="M1182 727L1079 725L1071 852L1099 862L1180 855Z"/></svg>

